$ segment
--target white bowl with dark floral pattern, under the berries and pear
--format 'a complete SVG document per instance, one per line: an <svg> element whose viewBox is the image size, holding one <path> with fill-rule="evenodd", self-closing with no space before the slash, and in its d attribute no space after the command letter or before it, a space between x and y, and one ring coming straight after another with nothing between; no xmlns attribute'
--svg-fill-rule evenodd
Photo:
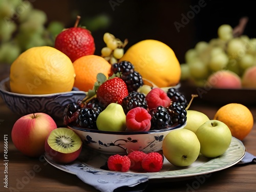
<svg viewBox="0 0 256 192"><path fill-rule="evenodd" d="M163 130L147 132L111 132L82 129L69 125L84 145L104 154L126 154L127 152L140 150L145 153L157 152L162 149L164 137L173 130L182 129L185 126L176 125Z"/></svg>

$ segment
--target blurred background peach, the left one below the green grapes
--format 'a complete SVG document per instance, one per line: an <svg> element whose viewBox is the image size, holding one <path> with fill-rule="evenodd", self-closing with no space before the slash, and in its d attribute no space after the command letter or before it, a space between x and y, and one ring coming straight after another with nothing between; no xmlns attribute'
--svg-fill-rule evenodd
<svg viewBox="0 0 256 192"><path fill-rule="evenodd" d="M221 70L211 74L207 82L214 88L241 89L241 78L234 72Z"/></svg>

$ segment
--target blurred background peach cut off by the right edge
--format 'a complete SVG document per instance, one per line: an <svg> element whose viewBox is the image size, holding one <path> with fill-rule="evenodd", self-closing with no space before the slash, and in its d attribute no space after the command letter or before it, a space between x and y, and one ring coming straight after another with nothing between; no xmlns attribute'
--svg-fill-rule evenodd
<svg viewBox="0 0 256 192"><path fill-rule="evenodd" d="M256 89L256 66L245 70L242 76L242 86L243 88Z"/></svg>

